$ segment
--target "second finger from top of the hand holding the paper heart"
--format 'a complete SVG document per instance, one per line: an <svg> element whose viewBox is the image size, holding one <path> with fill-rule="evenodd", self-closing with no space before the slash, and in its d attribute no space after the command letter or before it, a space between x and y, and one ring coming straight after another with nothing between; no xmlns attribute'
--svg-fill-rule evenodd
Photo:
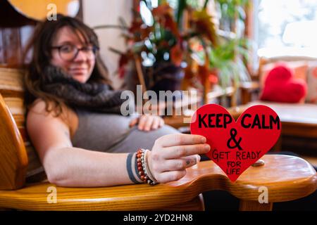
<svg viewBox="0 0 317 225"><path fill-rule="evenodd" d="M189 155L206 154L210 150L209 144L196 144L188 146L173 146L162 150L162 157L166 160L178 159Z"/></svg>

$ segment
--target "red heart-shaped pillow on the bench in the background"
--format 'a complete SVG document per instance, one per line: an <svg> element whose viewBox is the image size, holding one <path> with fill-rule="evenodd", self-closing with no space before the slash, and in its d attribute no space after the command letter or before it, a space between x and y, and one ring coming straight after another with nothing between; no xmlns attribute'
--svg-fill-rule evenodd
<svg viewBox="0 0 317 225"><path fill-rule="evenodd" d="M262 101L299 103L306 96L307 85L302 79L294 78L292 70L286 65L277 65L266 77Z"/></svg>

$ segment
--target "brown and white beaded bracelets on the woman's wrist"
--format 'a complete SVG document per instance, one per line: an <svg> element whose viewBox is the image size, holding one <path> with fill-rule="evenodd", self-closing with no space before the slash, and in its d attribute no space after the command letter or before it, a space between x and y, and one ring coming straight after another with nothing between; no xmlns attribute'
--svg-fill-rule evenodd
<svg viewBox="0 0 317 225"><path fill-rule="evenodd" d="M154 185L154 184L158 184L157 181L155 179L153 179L153 176L149 176L149 167L147 165L147 152L149 150L145 150L145 149L142 149L142 148L139 148L137 150L137 170L139 172L139 176L141 178L141 180L144 182L144 183L147 183L147 184L151 184L151 185Z"/></svg>

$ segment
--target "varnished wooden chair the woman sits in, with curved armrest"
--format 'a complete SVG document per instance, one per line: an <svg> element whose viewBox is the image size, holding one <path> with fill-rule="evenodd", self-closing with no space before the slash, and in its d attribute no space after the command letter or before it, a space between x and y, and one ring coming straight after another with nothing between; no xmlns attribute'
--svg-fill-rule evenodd
<svg viewBox="0 0 317 225"><path fill-rule="evenodd" d="M49 184L25 131L23 71L0 68L0 208L18 210L204 210L201 193L225 190L240 210L272 210L273 203L316 191L316 171L301 158L265 155L232 183L212 161L199 162L179 181L149 186L64 188ZM3 96L3 97L2 97ZM268 203L259 203L261 187Z"/></svg>

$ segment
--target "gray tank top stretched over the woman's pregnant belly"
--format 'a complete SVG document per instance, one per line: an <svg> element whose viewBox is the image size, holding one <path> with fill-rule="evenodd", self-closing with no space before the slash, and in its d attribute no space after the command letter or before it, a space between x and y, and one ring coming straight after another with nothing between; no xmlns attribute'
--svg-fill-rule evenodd
<svg viewBox="0 0 317 225"><path fill-rule="evenodd" d="M150 149L159 137L179 133L173 127L140 131L137 126L129 127L135 118L131 115L94 113L74 108L78 115L78 127L71 138L74 147L107 153L135 153L138 148Z"/></svg>

